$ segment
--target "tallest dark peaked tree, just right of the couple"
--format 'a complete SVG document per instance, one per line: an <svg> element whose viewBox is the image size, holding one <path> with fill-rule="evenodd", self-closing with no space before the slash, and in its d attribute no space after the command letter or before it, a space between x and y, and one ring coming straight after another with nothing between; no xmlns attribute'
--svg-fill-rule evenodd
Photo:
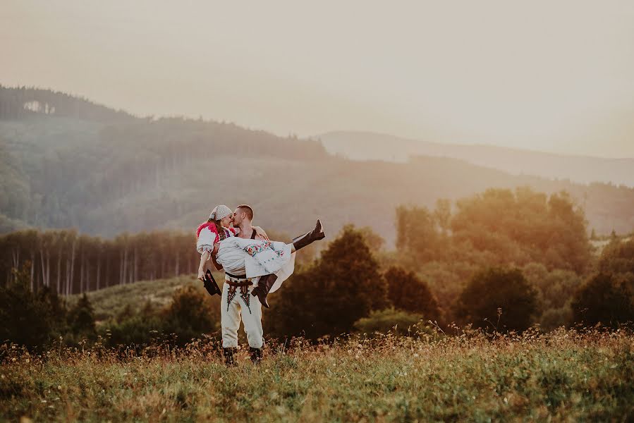
<svg viewBox="0 0 634 423"><path fill-rule="evenodd" d="M311 339L350 332L355 321L389 305L378 268L365 234L346 226L315 264L274 294L266 331Z"/></svg>

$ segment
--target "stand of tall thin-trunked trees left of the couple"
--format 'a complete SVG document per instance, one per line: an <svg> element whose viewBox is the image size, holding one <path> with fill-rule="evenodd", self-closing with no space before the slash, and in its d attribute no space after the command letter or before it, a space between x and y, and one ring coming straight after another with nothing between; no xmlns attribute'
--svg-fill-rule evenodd
<svg viewBox="0 0 634 423"><path fill-rule="evenodd" d="M49 286L61 295L107 286L190 274L198 266L195 235L177 231L123 233L114 240L73 230L16 231L0 235L0 285L11 269L30 262L33 290Z"/></svg>

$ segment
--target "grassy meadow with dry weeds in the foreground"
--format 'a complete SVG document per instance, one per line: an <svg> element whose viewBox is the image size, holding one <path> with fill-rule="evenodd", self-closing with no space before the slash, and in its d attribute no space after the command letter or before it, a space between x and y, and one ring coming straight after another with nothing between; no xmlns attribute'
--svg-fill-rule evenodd
<svg viewBox="0 0 634 423"><path fill-rule="evenodd" d="M0 348L0 420L632 421L634 336L350 337L269 345L228 369L213 341Z"/></svg>

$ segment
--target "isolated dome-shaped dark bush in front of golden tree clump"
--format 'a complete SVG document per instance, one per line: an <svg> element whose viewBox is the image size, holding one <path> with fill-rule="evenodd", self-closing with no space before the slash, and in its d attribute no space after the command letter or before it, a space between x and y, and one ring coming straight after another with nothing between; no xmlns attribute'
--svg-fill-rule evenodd
<svg viewBox="0 0 634 423"><path fill-rule="evenodd" d="M524 331L538 312L537 291L519 269L493 267L475 274L461 294L458 314L486 330Z"/></svg>

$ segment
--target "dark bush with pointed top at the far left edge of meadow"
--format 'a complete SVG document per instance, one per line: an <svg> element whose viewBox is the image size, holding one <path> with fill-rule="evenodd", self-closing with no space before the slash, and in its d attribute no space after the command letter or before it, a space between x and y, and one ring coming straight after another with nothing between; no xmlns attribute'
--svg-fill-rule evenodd
<svg viewBox="0 0 634 423"><path fill-rule="evenodd" d="M47 287L30 288L30 263L13 271L13 281L0 287L0 343L39 347L63 330L65 308Z"/></svg>

